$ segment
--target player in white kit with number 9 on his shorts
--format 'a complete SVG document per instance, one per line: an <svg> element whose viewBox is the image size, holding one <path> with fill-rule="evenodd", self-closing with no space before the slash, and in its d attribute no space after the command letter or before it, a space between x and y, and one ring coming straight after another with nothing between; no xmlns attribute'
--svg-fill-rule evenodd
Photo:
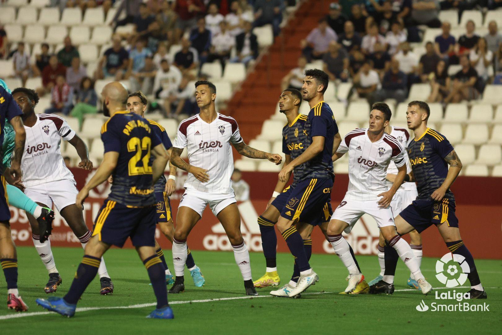
<svg viewBox="0 0 502 335"><path fill-rule="evenodd" d="M331 216L328 226L328 240L349 271L345 293L354 290L357 284L364 280L364 276L358 270L355 258L350 254L349 245L341 234L345 229L353 227L365 213L375 219L384 239L396 249L399 257L417 279L422 293L427 294L432 290L432 286L420 271L410 245L401 239L394 224L390 204L406 176L406 163L403 147L396 138L385 133L391 116L391 110L386 103L373 104L369 115L369 128L349 132L333 155L333 161L347 152L349 155L348 190ZM386 176L391 161L396 164L398 174L389 189Z"/></svg>

